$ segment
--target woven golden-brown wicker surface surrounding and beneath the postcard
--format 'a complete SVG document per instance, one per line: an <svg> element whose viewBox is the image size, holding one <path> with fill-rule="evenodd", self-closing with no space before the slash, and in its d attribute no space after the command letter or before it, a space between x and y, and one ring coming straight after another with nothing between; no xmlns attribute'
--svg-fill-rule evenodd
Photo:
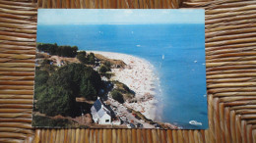
<svg viewBox="0 0 256 143"><path fill-rule="evenodd" d="M204 8L208 130L33 129L37 8ZM0 142L256 142L255 0L0 0Z"/></svg>

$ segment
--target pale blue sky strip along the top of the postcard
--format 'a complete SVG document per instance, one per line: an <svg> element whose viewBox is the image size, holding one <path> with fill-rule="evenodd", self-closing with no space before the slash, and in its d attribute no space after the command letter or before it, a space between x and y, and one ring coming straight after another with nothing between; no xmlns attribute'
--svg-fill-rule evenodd
<svg viewBox="0 0 256 143"><path fill-rule="evenodd" d="M205 24L204 9L38 9L37 24Z"/></svg>

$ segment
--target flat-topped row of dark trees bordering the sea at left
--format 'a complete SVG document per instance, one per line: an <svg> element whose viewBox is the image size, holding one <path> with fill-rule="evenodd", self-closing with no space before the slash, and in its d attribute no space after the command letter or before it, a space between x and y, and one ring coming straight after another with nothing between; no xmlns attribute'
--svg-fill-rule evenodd
<svg viewBox="0 0 256 143"><path fill-rule="evenodd" d="M36 48L39 52L49 53L49 55L57 55L61 57L76 57L77 46L58 46L56 43L37 43Z"/></svg>

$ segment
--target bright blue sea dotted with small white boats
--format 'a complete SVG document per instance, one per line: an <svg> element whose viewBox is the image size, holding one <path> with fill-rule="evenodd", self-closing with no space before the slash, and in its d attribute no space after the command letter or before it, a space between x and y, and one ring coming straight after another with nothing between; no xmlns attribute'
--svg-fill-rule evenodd
<svg viewBox="0 0 256 143"><path fill-rule="evenodd" d="M37 42L148 60L160 77L161 121L208 128L204 24L38 25Z"/></svg>

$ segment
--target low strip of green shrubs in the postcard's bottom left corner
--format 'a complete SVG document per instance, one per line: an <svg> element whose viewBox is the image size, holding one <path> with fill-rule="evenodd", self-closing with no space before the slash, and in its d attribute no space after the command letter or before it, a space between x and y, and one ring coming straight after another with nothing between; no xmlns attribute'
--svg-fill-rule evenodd
<svg viewBox="0 0 256 143"><path fill-rule="evenodd" d="M63 127L71 127L75 124L74 121L70 121L69 119L51 119L48 117L41 116L32 116L32 125L33 126L63 126Z"/></svg>

